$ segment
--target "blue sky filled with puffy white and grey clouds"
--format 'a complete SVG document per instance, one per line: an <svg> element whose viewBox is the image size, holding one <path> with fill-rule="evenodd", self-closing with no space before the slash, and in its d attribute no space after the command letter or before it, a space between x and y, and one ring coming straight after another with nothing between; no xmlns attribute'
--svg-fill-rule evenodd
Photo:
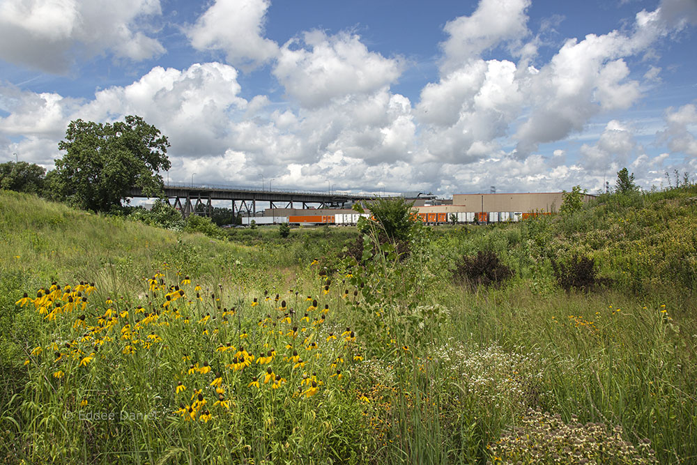
<svg viewBox="0 0 697 465"><path fill-rule="evenodd" d="M0 0L0 162L137 114L171 181L597 192L697 173L697 0Z"/></svg>

